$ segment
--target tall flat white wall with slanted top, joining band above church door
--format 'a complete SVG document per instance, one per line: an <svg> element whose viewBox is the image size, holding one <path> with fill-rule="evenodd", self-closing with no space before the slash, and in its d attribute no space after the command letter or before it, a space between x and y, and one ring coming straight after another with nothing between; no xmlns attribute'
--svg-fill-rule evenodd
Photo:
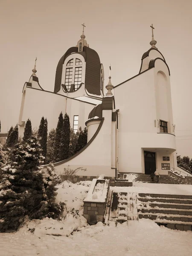
<svg viewBox="0 0 192 256"><path fill-rule="evenodd" d="M163 67L155 64L155 67L156 70L150 69L115 88L116 108L119 109L120 172L142 172L141 148L168 148L169 153L176 149L175 136L158 134L157 123L155 127L157 77L154 76L159 70L167 72L165 64Z"/></svg>

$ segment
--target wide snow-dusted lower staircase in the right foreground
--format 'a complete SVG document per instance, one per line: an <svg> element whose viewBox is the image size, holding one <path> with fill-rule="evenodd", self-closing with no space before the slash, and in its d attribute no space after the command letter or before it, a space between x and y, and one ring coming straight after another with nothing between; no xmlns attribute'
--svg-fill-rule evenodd
<svg viewBox="0 0 192 256"><path fill-rule="evenodd" d="M192 231L192 195L139 194L139 218L148 218L165 227Z"/></svg>

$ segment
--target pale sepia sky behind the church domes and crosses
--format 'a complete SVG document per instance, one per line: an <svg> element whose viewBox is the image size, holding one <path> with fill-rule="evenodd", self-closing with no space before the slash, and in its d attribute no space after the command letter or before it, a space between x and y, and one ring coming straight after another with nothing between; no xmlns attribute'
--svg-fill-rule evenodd
<svg viewBox="0 0 192 256"><path fill-rule="evenodd" d="M171 72L177 154L192 157L191 13L191 0L0 0L1 132L18 122L35 57L41 87L53 91L58 61L76 46L82 23L104 65L105 85L111 64L114 86L139 73L153 23L156 46Z"/></svg>

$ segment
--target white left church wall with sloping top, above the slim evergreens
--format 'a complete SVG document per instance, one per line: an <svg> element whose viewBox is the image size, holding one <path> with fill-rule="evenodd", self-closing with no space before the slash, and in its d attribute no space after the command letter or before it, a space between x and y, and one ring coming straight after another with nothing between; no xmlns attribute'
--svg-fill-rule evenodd
<svg viewBox="0 0 192 256"><path fill-rule="evenodd" d="M59 114L65 113L66 97L46 92L43 90L35 90L30 87L26 88L26 95L23 98L23 111L20 122L26 122L29 118L32 127L39 127L41 117L44 116L48 121L48 131L56 128ZM86 107L85 107L86 105ZM73 116L79 116L78 128L85 127L90 111L95 105L81 102L78 100L67 98L67 114L70 117L70 125L73 127ZM19 133L23 135L24 128L20 127Z"/></svg>

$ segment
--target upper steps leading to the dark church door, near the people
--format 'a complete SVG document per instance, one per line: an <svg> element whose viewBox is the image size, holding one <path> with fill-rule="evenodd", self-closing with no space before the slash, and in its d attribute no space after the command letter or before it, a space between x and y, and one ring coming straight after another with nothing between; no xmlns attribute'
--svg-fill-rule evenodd
<svg viewBox="0 0 192 256"><path fill-rule="evenodd" d="M150 175L143 173L119 173L119 180L128 180L133 182L148 182L152 183ZM154 183L157 183L157 178L154 176ZM172 175L160 175L159 183L165 184L180 184L180 181L177 177L173 177Z"/></svg>

